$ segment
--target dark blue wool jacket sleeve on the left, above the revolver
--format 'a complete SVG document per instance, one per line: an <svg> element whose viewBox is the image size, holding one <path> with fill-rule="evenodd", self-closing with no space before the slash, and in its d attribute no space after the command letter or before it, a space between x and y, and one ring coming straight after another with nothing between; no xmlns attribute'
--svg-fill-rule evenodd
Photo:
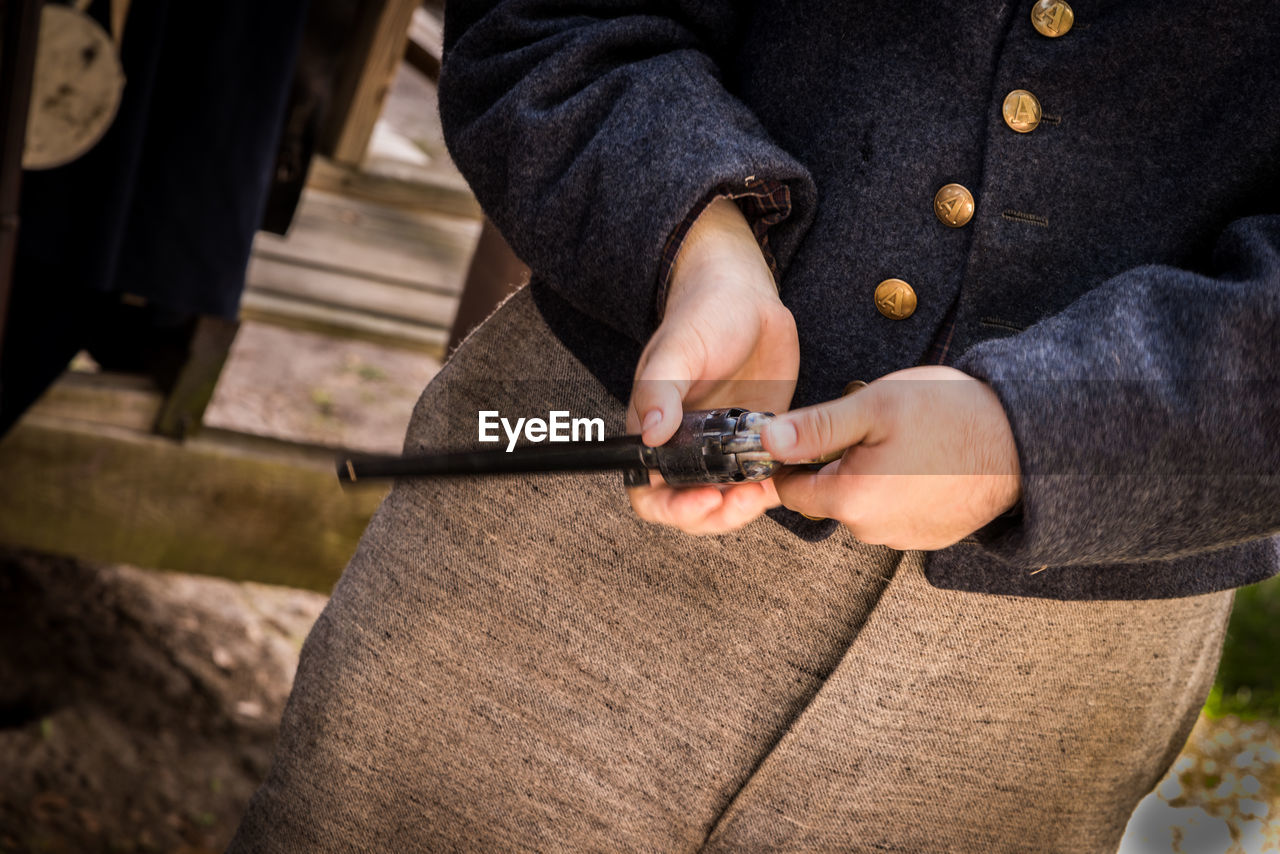
<svg viewBox="0 0 1280 854"><path fill-rule="evenodd" d="M536 277L641 343L663 247L701 200L783 183L780 266L812 216L808 172L723 85L733 6L509 0L445 15L440 117L481 207Z"/></svg>

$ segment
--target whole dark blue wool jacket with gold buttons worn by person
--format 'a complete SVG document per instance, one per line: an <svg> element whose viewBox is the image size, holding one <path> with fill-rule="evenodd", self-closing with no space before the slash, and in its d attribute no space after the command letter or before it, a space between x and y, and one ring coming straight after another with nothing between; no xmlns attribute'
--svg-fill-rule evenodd
<svg viewBox="0 0 1280 854"><path fill-rule="evenodd" d="M454 160L550 326L626 398L663 247L749 179L800 330L795 406L947 364L1005 405L1021 513L933 584L1157 598L1280 566L1280 18L1243 0L449 4ZM1014 132L1005 96L1043 120ZM947 228L932 200L968 187ZM876 307L914 288L905 320ZM771 513L799 536L833 522Z"/></svg>

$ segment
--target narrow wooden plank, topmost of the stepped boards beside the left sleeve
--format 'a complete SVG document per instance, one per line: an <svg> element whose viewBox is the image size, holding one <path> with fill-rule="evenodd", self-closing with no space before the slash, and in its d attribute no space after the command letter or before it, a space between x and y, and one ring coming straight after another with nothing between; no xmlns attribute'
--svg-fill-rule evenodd
<svg viewBox="0 0 1280 854"><path fill-rule="evenodd" d="M307 174L307 186L339 193L348 198L394 205L411 210L434 210L452 216L480 219L480 205L467 182L454 169L399 168L381 163L358 169L315 157Z"/></svg>

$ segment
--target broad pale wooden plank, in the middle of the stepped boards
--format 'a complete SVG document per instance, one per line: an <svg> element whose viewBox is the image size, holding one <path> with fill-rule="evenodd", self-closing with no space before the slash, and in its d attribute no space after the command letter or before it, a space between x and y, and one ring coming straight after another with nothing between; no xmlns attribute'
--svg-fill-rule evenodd
<svg viewBox="0 0 1280 854"><path fill-rule="evenodd" d="M470 219L307 191L288 237L259 233L257 257L457 293L479 239Z"/></svg>

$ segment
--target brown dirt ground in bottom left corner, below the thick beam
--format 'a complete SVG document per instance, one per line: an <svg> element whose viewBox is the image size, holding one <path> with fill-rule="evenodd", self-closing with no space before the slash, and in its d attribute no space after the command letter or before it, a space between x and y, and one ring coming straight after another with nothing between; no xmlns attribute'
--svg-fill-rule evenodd
<svg viewBox="0 0 1280 854"><path fill-rule="evenodd" d="M0 551L0 851L221 851L324 603Z"/></svg>

